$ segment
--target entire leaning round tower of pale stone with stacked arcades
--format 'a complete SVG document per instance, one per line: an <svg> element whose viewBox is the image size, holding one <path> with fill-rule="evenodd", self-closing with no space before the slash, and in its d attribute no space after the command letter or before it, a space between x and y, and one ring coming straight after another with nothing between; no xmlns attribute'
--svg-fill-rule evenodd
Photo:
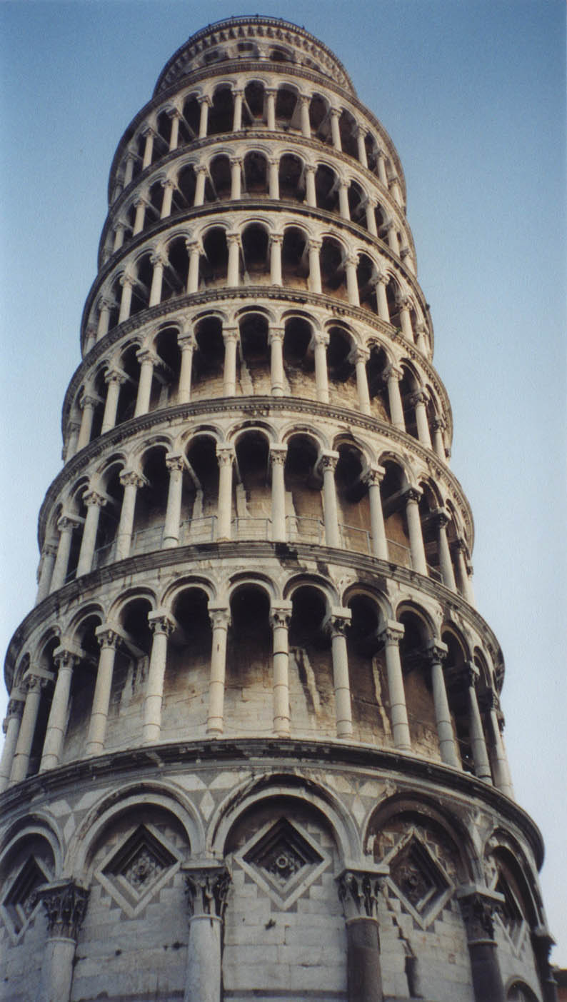
<svg viewBox="0 0 567 1002"><path fill-rule="evenodd" d="M0 998L555 998L402 165L303 28L121 138L8 649Z"/></svg>

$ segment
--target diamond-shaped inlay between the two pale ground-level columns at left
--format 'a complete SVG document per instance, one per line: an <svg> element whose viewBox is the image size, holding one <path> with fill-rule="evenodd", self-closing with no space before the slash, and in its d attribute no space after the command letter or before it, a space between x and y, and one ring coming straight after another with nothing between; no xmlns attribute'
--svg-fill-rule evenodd
<svg viewBox="0 0 567 1002"><path fill-rule="evenodd" d="M165 845L150 826L140 825L104 861L96 876L126 914L134 916L178 866L173 847Z"/></svg>

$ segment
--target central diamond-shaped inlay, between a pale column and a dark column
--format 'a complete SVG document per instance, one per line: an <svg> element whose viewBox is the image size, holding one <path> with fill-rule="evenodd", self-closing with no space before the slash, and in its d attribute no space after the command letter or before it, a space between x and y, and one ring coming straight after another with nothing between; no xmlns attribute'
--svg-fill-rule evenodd
<svg viewBox="0 0 567 1002"><path fill-rule="evenodd" d="M301 826L286 818L264 825L235 858L281 909L290 908L331 862Z"/></svg>

